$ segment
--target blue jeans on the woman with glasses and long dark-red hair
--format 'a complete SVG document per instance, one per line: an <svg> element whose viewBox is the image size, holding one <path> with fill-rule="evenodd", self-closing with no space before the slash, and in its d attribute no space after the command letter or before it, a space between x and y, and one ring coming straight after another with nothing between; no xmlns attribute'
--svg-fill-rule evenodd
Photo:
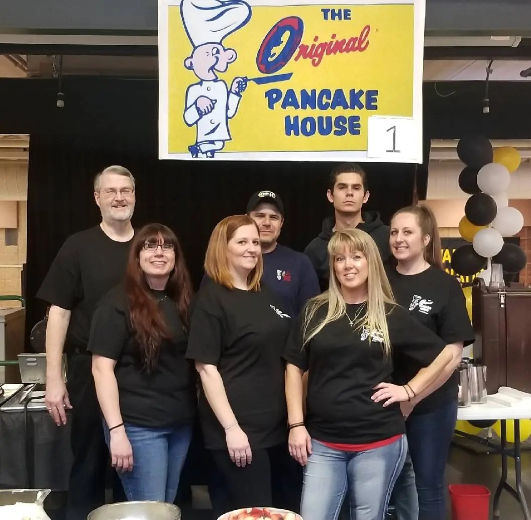
<svg viewBox="0 0 531 520"><path fill-rule="evenodd" d="M110 442L104 422L105 439ZM133 449L133 471L119 473L127 500L173 504L190 441L192 425L148 428L125 424Z"/></svg>

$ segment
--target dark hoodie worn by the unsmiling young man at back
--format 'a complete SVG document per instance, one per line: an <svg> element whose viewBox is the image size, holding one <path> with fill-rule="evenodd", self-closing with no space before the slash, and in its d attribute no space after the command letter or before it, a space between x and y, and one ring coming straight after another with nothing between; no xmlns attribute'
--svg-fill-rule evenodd
<svg viewBox="0 0 531 520"><path fill-rule="evenodd" d="M362 212L362 220L364 222L356 226L366 233L369 233L372 239L376 242L383 263L386 263L391 257L391 249L389 248L389 232L390 228L384 225L380 219L380 213L376 211ZM304 254L310 258L313 267L319 277L321 289L324 291L328 289L328 242L333 235L333 227L336 221L334 217L327 217L323 220L323 228L318 237L315 237L310 244L304 249Z"/></svg>

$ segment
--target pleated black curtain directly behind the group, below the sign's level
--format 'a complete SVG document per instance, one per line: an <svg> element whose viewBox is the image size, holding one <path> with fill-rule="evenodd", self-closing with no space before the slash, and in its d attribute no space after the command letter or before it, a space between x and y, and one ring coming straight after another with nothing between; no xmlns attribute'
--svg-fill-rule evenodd
<svg viewBox="0 0 531 520"><path fill-rule="evenodd" d="M131 146L133 144L133 146ZM162 222L182 241L195 284L214 225L244 213L257 190L277 191L286 206L282 244L303 250L332 214L326 199L332 163L158 161L152 136L32 135L28 190L27 319L38 321L44 303L35 295L63 241L99 222L92 179L110 164L127 166L136 178L135 227ZM389 221L412 200L415 167L368 165L367 208Z"/></svg>

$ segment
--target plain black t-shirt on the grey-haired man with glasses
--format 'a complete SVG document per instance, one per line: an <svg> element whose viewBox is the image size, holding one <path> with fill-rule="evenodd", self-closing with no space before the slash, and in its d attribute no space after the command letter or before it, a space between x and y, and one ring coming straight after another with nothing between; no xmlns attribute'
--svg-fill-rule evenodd
<svg viewBox="0 0 531 520"><path fill-rule="evenodd" d="M42 282L37 298L72 311L66 348L89 342L92 314L100 298L125 274L131 240L109 238L99 225L68 237Z"/></svg>

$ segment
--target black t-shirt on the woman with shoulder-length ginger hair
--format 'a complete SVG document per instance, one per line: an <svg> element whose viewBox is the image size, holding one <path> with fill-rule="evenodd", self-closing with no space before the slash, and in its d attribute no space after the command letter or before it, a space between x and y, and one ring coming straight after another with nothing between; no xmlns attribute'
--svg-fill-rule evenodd
<svg viewBox="0 0 531 520"><path fill-rule="evenodd" d="M259 292L229 290L210 280L196 295L186 356L217 366L251 448L287 439L282 351L291 321L266 286ZM202 389L199 414L205 446L226 449L225 431Z"/></svg>

